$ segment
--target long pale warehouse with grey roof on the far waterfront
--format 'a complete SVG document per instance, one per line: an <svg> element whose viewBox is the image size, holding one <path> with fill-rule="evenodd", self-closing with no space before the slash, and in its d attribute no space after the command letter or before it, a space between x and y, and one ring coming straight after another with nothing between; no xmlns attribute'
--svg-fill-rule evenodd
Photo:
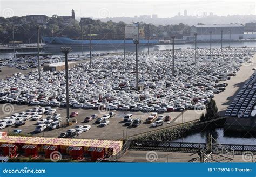
<svg viewBox="0 0 256 177"><path fill-rule="evenodd" d="M194 34L197 33L197 40L210 40L210 32L212 32L212 40L221 40L221 31L223 31L223 40L245 39L244 26L241 24L226 25L193 25L190 29L190 36L184 36L184 40L194 40Z"/></svg>

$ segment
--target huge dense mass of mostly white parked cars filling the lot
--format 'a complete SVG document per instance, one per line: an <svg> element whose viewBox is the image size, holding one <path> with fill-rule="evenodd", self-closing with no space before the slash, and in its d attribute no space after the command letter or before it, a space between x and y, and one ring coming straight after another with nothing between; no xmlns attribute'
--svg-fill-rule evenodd
<svg viewBox="0 0 256 177"><path fill-rule="evenodd" d="M193 109L224 91L226 84L222 82L235 76L241 60L247 62L254 54L251 48L212 50L215 55L208 58L207 49L199 49L196 64L193 49L177 51L174 76L172 52L150 52L150 56L140 52L140 91L135 88L134 53L127 53L125 59L119 55L96 58L92 67L79 63L69 69L70 106L147 112ZM37 70L0 80L0 103L65 107L65 100L64 71L42 72L40 81Z"/></svg>

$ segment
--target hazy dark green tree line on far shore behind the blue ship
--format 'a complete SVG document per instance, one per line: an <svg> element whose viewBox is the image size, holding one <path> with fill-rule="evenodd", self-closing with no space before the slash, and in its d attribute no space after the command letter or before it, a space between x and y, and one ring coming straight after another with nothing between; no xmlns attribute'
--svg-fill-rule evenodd
<svg viewBox="0 0 256 177"><path fill-rule="evenodd" d="M91 34L93 39L123 39L124 38L124 22L102 22L100 20L90 20ZM35 43L37 41L37 26L36 22L28 22L26 16L22 17L0 17L0 43L8 44L12 41L12 28L14 26L15 41L23 43ZM140 28L144 29L145 38L148 37L148 26L144 22L140 23ZM81 25L77 20L71 20L70 23L64 23L62 17L53 15L48 18L47 23L42 25L40 36L54 37L70 37L78 39L81 37L89 38L88 24ZM190 34L190 26L183 23L176 25L153 25L149 24L150 39L164 39L171 35L176 35L177 38L182 38L183 35ZM164 35L165 34L165 35Z"/></svg>

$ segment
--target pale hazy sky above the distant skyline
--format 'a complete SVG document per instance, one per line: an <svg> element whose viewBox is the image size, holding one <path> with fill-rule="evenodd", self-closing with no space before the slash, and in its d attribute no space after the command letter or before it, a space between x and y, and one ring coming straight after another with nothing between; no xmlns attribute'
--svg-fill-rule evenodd
<svg viewBox="0 0 256 177"><path fill-rule="evenodd" d="M71 9L75 10L79 17L134 17L134 15L158 14L158 17L173 17L184 10L188 15L198 12L213 12L217 15L256 15L255 0L251 1L172 1L172 0L90 0L90 1L66 1L66 0L0 0L1 16L23 16L43 14L52 16L71 15Z"/></svg>

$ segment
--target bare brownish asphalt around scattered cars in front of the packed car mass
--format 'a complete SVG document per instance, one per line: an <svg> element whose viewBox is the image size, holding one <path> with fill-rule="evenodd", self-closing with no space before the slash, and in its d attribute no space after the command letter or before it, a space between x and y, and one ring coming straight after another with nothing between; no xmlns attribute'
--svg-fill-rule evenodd
<svg viewBox="0 0 256 177"><path fill-rule="evenodd" d="M17 106L15 105L15 111L12 112L14 114L15 112L18 112L16 110L26 111L28 109L32 109L33 107L28 107L26 105ZM11 115L4 115L3 112L1 112L0 119L3 119L4 117L8 117ZM145 123L147 117L151 113L145 113L145 112L129 112L129 111L114 111L116 115L114 117L109 118L109 125L100 127L99 124L95 124L96 119L93 119L92 121L88 123L84 123L84 119L87 116L90 116L92 114L97 114L99 117L102 117L103 114L100 114L98 110L86 110L86 109L70 109L70 112L77 111L78 116L75 117L77 119L77 123L73 124L68 127L62 127L55 130L48 130L46 129L44 132L36 133L36 122L37 121L26 121L25 125L19 126L16 128L15 126L10 126L9 131L12 131L14 129L22 129L21 134L32 134L33 136L45 136L45 137L58 137L60 133L66 132L68 129L73 129L77 125L91 125L91 129L87 132L84 132L80 134L79 136L76 136L76 138L90 138L90 139L121 139L123 138L124 134L126 136L132 136L139 133L144 133L151 130L156 130L159 128L163 128L164 126L171 126L182 122L192 121L194 119L199 118L199 114L196 114L193 110L187 110L183 112L183 120L181 116L181 112L169 112L161 115L170 115L171 121L167 124L167 122L164 122L163 126L158 126L156 128L152 128L150 123ZM66 109L63 108L57 108L57 113L61 114L62 119L61 122L66 122ZM136 118L142 118L142 124L140 124L138 127L132 127L132 126L125 126L124 122L124 116L126 114L133 114L133 119ZM46 118L46 115L43 116L43 118ZM38 120L39 121L39 120ZM1 131L8 131L8 128L1 129Z"/></svg>

